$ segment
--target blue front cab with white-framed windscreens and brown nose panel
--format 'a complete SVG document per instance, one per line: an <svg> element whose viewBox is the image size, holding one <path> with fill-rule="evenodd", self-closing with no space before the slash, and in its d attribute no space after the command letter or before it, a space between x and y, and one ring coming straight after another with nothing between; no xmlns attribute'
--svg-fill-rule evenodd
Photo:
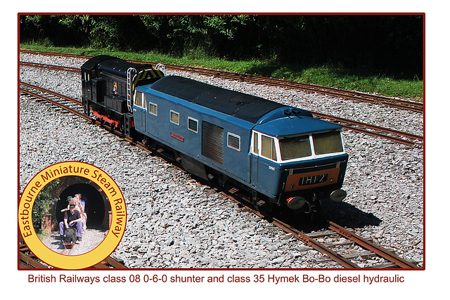
<svg viewBox="0 0 450 300"><path fill-rule="evenodd" d="M314 200L342 201L347 195L340 190L348 155L338 125L308 116L271 120L253 129L250 155L252 185L273 195L269 202L300 209Z"/></svg>

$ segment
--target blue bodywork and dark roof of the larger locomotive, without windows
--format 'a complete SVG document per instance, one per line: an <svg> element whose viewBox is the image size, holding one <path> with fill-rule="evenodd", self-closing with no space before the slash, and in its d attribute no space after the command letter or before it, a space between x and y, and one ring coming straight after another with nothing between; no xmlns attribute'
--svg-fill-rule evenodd
<svg viewBox="0 0 450 300"><path fill-rule="evenodd" d="M183 77L164 77L137 87L136 92L145 94L146 102L133 105L136 131L266 195L271 202L307 190L288 191L288 176L297 176L292 177L297 180L301 177L297 174L334 170L338 181L323 188L342 185L348 158L345 152L295 162L274 161L252 152L255 131L274 138L340 131L340 126L314 119L306 110ZM150 106L156 107L153 114ZM176 118L171 122L171 114L178 114L179 124ZM208 140L205 131L213 132L215 140Z"/></svg>

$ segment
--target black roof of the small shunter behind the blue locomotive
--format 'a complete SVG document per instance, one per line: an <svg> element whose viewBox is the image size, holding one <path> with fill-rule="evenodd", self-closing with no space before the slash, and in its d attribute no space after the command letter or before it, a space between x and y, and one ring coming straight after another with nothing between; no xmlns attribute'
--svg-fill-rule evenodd
<svg viewBox="0 0 450 300"><path fill-rule="evenodd" d="M143 65L139 63L130 63L127 60L121 58L115 58L113 56L94 56L82 65L84 70L94 70L98 68L98 71L108 72L110 74L127 77L127 70L129 67L134 67L136 70L151 69L152 65Z"/></svg>

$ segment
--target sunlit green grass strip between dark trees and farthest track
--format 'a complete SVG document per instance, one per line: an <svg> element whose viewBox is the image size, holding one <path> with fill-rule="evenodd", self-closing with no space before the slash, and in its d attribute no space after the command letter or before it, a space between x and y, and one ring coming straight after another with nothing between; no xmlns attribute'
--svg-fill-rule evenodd
<svg viewBox="0 0 450 300"><path fill-rule="evenodd" d="M423 80L395 79L384 74L361 74L359 72L354 72L354 70L345 70L339 67L301 67L296 65L282 65L276 60L231 61L218 58L207 58L202 53L196 52L188 53L188 55L183 58L174 58L152 52L131 53L94 48L41 46L39 44L20 44L20 48L37 51L72 53L85 56L108 54L129 60L145 60L168 65L205 67L214 70L226 70L229 72L299 81L306 84L329 86L338 89L378 93L383 96L423 100Z"/></svg>

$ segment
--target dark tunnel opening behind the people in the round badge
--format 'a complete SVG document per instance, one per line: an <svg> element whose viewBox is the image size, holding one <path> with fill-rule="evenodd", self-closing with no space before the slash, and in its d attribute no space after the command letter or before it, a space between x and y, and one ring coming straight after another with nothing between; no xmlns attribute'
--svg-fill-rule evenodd
<svg viewBox="0 0 450 300"><path fill-rule="evenodd" d="M56 202L56 220L58 222L63 221L64 213L61 213L61 209L68 207L68 196L74 196L81 193L82 200L86 202L85 211L87 214L87 227L88 228L104 228L105 224L108 226L108 209L105 207L105 195L103 191L99 191L94 186L87 183L75 183L65 188L59 195L59 200ZM103 195L102 195L103 194Z"/></svg>

